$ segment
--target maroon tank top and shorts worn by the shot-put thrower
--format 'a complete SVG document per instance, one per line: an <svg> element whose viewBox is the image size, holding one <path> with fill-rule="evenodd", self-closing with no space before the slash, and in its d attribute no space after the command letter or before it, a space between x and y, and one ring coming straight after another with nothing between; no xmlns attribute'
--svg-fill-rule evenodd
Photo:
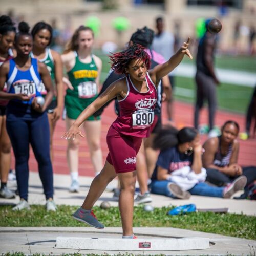
<svg viewBox="0 0 256 256"><path fill-rule="evenodd" d="M106 160L112 164L116 173L136 170L136 155L142 139L150 135L154 122L154 108L157 89L148 73L147 92L139 92L129 76L126 77L127 95L119 100L120 115L111 125L106 142L109 154Z"/></svg>

